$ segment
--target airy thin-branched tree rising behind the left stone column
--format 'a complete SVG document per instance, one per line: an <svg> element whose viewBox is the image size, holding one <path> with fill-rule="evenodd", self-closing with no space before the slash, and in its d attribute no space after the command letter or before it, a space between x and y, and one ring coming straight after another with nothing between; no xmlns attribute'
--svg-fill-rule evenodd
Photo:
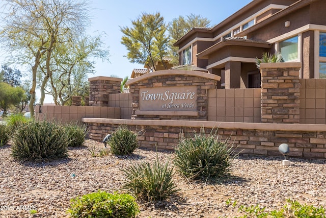
<svg viewBox="0 0 326 218"><path fill-rule="evenodd" d="M94 74L94 58L108 60L108 50L102 49L101 35L85 36L71 44L66 40L53 51L51 59L52 77L44 87L52 95L56 105L66 105L73 95L89 95L88 76ZM46 65L41 63L38 77L46 75ZM41 88L41 87L40 87Z"/></svg>

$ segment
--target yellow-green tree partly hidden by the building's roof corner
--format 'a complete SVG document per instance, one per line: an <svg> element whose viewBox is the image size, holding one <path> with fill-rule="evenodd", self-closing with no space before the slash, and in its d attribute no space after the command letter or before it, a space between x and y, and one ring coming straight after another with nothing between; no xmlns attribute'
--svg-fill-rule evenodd
<svg viewBox="0 0 326 218"><path fill-rule="evenodd" d="M169 23L169 36L171 38L169 42L170 57L172 58L173 65L179 64L179 54L178 47L173 46L173 44L178 41L187 32L191 31L193 28L209 28L210 20L202 17L201 15L190 14L186 18L179 16L174 18L172 22Z"/></svg>

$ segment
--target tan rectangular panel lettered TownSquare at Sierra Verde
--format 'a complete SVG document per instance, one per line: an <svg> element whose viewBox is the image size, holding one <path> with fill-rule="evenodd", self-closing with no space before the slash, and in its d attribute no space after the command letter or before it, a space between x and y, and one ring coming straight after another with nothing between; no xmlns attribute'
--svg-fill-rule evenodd
<svg viewBox="0 0 326 218"><path fill-rule="evenodd" d="M139 106L142 111L197 111L197 87L140 88Z"/></svg>

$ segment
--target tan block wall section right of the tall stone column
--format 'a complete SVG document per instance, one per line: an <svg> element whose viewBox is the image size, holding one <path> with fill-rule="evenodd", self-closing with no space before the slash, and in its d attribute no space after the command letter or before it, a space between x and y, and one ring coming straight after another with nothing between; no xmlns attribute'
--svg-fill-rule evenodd
<svg viewBox="0 0 326 218"><path fill-rule="evenodd" d="M326 80L300 79L300 123L326 124Z"/></svg>

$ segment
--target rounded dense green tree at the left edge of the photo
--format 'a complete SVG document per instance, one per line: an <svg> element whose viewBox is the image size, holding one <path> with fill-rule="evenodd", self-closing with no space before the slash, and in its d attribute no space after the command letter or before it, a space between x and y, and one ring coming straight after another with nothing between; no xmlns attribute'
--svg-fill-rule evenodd
<svg viewBox="0 0 326 218"><path fill-rule="evenodd" d="M20 103L24 98L25 91L21 87L12 87L8 83L0 82L0 108L4 110L4 115L11 106Z"/></svg>

